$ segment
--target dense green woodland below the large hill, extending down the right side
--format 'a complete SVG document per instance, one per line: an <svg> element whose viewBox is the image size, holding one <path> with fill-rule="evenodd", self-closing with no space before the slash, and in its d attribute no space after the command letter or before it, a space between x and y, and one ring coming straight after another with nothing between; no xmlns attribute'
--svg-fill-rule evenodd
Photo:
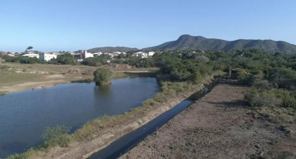
<svg viewBox="0 0 296 159"><path fill-rule="evenodd" d="M198 83L213 71L238 67L250 74L232 73L232 78L251 88L245 93L250 106L273 122L296 122L296 55L271 54L264 50L170 51L152 58L131 57L125 63L136 67L159 67L176 81ZM254 76L253 76L254 75Z"/></svg>

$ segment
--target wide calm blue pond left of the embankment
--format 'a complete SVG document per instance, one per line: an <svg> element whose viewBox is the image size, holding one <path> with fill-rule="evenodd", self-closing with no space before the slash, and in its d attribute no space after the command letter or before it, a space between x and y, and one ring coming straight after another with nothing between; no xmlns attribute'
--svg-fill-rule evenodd
<svg viewBox="0 0 296 159"><path fill-rule="evenodd" d="M62 84L0 96L0 158L42 144L44 127L72 127L101 115L129 111L160 87L155 78L120 78L108 86Z"/></svg>

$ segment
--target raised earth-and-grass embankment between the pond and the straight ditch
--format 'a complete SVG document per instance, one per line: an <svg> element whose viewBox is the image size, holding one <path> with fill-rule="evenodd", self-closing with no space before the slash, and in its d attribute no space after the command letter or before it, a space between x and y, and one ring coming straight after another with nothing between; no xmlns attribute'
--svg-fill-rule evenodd
<svg viewBox="0 0 296 159"><path fill-rule="evenodd" d="M171 97L166 97L168 98L166 102L157 102L157 95L155 95L153 100L149 99L143 102L142 106L125 114L94 119L93 121L86 123L74 134L70 135L72 138L77 138L77 136L81 135L84 137L81 141L78 141L77 139L73 140L68 144L68 147L57 146L42 151L31 149L24 155L29 155L30 158L87 158L121 136L136 130L163 112L171 109L191 94L204 88L205 85L209 84L212 80L213 77L209 77L200 84L186 86L188 91L184 91L184 93L179 93L178 95ZM176 84L181 84L180 86L183 85L182 83ZM180 88L180 86L178 87Z"/></svg>

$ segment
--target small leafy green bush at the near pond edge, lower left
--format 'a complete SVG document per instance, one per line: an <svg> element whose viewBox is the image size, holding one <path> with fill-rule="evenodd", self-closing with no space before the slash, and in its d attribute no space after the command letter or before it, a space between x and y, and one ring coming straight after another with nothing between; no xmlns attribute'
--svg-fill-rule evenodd
<svg viewBox="0 0 296 159"><path fill-rule="evenodd" d="M57 125L56 127L46 127L42 134L47 146L61 146L66 147L70 141L70 136L67 135L70 132L70 127L65 125Z"/></svg>

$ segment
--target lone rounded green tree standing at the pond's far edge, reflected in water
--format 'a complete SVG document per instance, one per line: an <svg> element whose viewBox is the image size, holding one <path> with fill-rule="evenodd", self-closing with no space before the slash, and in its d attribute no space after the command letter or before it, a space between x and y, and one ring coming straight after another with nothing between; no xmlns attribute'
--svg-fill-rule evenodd
<svg viewBox="0 0 296 159"><path fill-rule="evenodd" d="M111 83L112 71L110 68L98 68L94 71L94 81L96 85L107 85Z"/></svg>

